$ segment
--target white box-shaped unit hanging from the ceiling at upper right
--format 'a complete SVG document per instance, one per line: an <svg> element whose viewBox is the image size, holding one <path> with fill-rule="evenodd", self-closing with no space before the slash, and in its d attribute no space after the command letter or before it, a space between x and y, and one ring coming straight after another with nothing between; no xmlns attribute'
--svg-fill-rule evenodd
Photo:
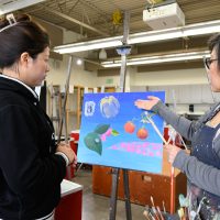
<svg viewBox="0 0 220 220"><path fill-rule="evenodd" d="M176 1L153 4L143 11L143 21L153 30L185 25L185 15Z"/></svg>

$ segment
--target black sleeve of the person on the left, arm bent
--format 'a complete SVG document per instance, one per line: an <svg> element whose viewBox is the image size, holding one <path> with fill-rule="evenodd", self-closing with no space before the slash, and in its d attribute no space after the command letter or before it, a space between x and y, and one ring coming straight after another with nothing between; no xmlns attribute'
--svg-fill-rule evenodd
<svg viewBox="0 0 220 220"><path fill-rule="evenodd" d="M9 187L16 194L59 187L66 164L59 155L42 158L37 127L31 112L20 106L0 112L0 167Z"/></svg>

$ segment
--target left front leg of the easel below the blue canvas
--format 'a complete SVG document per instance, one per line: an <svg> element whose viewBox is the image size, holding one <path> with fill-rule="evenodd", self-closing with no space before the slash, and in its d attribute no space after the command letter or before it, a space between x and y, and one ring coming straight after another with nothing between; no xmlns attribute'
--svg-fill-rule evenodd
<svg viewBox="0 0 220 220"><path fill-rule="evenodd" d="M119 168L112 169L112 188L109 208L109 220L116 220L117 216L117 193L119 185Z"/></svg>

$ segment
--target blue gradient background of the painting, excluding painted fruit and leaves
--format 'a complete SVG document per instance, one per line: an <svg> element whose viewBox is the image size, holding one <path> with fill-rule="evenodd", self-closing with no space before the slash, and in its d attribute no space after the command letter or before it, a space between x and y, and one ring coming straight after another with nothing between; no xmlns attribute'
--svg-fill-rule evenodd
<svg viewBox="0 0 220 220"><path fill-rule="evenodd" d="M100 111L100 100L105 97L113 96L120 103L119 113L113 118L105 118ZM145 124L148 131L148 138L141 140L134 133L130 134L124 131L124 124L128 121L133 121L135 128L143 127L141 114L144 110L138 109L134 106L136 99L146 99L147 96L156 96L163 102L165 100L164 91L147 91L147 92L113 92L113 94L85 94L81 112L81 128L78 143L78 162L103 165L118 168L135 169L150 173L162 173L162 156L146 156L127 151L116 151L111 146L120 145L120 143L140 143L144 142L160 145L161 155L163 155L163 142L158 134L154 131L151 123ZM85 116L85 103L94 101L96 103L92 116ZM150 112L151 113L151 112ZM153 116L153 121L163 134L163 119L158 116ZM119 135L110 135L102 142L102 154L89 150L85 145L85 136L92 132L98 124L110 124L110 128L119 132ZM158 151L158 150L157 150Z"/></svg>

